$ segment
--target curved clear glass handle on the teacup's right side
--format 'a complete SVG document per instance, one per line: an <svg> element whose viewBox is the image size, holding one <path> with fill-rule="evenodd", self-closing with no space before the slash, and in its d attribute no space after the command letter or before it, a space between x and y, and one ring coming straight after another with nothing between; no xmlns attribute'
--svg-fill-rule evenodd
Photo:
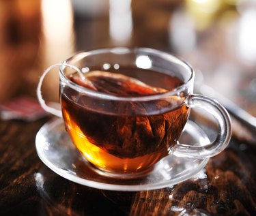
<svg viewBox="0 0 256 216"><path fill-rule="evenodd" d="M204 95L188 95L185 103L188 108L201 108L212 114L218 123L218 134L213 142L204 146L192 146L177 142L173 147L173 155L177 157L205 158L212 157L223 151L231 138L231 121L227 110L216 100Z"/></svg>

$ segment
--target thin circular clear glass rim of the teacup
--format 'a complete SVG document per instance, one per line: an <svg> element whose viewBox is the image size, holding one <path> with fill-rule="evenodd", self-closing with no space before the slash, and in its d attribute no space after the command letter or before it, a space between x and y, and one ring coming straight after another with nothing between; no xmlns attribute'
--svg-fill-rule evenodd
<svg viewBox="0 0 256 216"><path fill-rule="evenodd" d="M139 96L139 97L119 97L115 95L109 95L106 93L99 93L97 91L87 89L85 87L82 87L79 84L76 84L75 82L72 82L70 79L66 77L64 74L63 70L65 69L66 65L64 64L70 64L68 63L71 61L74 57L78 55L82 55L83 57L86 57L91 54L97 54L97 53L103 53L103 52L113 52L113 53L126 53L126 52L145 52L149 54L157 54L160 55L162 58L169 59L169 61L175 61L176 63L180 63L180 65L184 65L188 67L188 70L190 70L190 77L184 84L180 85L179 87L175 89L171 89L170 91L167 91L166 93L161 93L161 94L156 94L156 95L146 95L146 96ZM116 48L100 48L96 50L81 50L79 52L75 52L71 57L66 59L65 61L62 62L63 65L59 66L59 77L61 81L63 81L65 84L67 84L69 87L72 87L72 89L79 91L81 93L85 93L91 97L98 97L100 99L109 99L109 100L114 100L114 101L129 101L129 102L140 102L140 101L150 101L150 100L155 100L155 99L160 99L163 97L170 97L173 95L177 95L179 92L184 91L185 89L188 89L191 84L193 84L193 79L195 76L195 72L193 70L193 67L190 65L190 63L184 61L180 57L175 57L174 55L171 55L168 52L164 52L161 50L156 50L153 48L126 48L126 47L116 47Z"/></svg>

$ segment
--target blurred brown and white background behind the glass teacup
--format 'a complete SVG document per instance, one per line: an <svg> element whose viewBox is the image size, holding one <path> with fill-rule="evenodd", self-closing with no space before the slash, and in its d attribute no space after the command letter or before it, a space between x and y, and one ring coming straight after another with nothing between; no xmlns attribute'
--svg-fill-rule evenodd
<svg viewBox="0 0 256 216"><path fill-rule="evenodd" d="M40 74L74 52L113 46L182 57L197 85L256 116L255 0L0 0L0 104L35 97Z"/></svg>

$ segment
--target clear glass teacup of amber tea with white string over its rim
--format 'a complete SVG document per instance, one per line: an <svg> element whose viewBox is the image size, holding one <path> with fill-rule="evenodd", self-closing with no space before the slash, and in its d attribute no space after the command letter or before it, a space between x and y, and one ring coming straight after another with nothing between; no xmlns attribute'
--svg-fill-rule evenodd
<svg viewBox="0 0 256 216"><path fill-rule="evenodd" d="M44 103L44 76L38 85L42 107L63 117L72 142L100 174L132 179L150 172L164 157L212 157L229 143L225 108L193 94L193 68L166 52L104 48L76 53L59 65L61 110ZM213 142L178 142L190 108L214 116L218 132Z"/></svg>

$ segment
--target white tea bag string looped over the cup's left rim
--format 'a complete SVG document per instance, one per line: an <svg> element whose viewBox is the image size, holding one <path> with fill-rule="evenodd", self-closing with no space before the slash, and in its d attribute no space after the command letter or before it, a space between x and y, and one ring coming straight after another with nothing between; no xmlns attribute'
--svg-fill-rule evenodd
<svg viewBox="0 0 256 216"><path fill-rule="evenodd" d="M42 89L42 82L44 81L44 78L45 78L45 76L48 74L48 72L50 72L54 67L59 67L59 66L63 66L63 65L64 65L64 66L67 66L67 67L70 67L72 70L76 71L76 72L79 74L79 76L81 77L82 80L87 80L87 79L85 78L85 76L83 75L83 72L81 72L81 70L80 70L78 67L76 67L76 66L74 66L74 65L70 65L70 64L68 64L68 63L56 63L56 64L54 64L54 65L51 65L50 67L48 67L48 68L44 71L44 73L42 74L42 76L40 77L40 80L39 80L39 82L38 82L38 87L37 87L37 89L36 89L36 94L37 94L37 96L38 96L38 100L39 100L40 105L42 106L42 108L43 108L44 110L46 110L46 112L50 112L51 114L54 114L54 115L57 116L57 117L62 117L61 110L57 110L57 109L55 109L55 108L53 108L53 107L51 107L51 106L46 105L46 102L45 102L45 100L44 100L43 97L42 97L42 91L41 91L41 89ZM89 83L89 84L90 84L90 83Z"/></svg>

